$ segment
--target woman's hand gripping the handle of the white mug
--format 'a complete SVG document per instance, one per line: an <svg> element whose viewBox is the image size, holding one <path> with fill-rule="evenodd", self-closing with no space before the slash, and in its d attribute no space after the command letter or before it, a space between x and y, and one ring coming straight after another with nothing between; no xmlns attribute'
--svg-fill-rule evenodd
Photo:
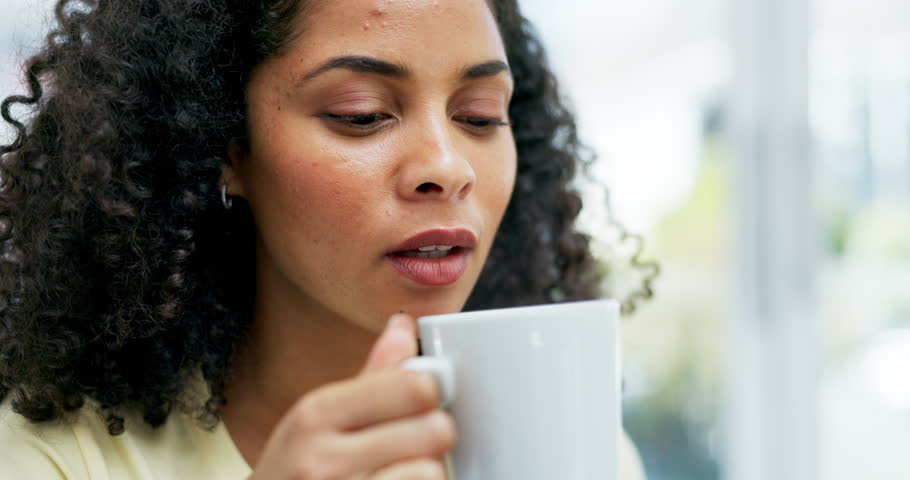
<svg viewBox="0 0 910 480"><path fill-rule="evenodd" d="M397 368L417 353L414 319L393 315L354 378L304 395L285 414L253 480L446 478L455 426L430 374Z"/></svg>

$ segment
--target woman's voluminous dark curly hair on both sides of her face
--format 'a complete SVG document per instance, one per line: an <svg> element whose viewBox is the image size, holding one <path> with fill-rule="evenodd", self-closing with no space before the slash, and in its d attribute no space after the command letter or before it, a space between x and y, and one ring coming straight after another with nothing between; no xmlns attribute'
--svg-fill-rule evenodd
<svg viewBox="0 0 910 480"><path fill-rule="evenodd" d="M308 3L57 2L28 94L2 103L16 136L0 147L0 400L16 412L52 420L92 399L113 435L127 411L158 426L201 370L211 396L193 408L218 421L255 277L253 218L243 201L222 207L220 165L246 134L251 70L281 54ZM516 0L490 4L518 171L466 308L594 298L573 115Z"/></svg>

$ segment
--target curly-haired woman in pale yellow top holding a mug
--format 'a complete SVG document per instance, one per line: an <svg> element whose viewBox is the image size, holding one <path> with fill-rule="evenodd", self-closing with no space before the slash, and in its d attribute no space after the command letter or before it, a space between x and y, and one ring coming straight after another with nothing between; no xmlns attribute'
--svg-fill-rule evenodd
<svg viewBox="0 0 910 480"><path fill-rule="evenodd" d="M56 17L2 112L0 476L443 478L413 318L596 295L514 0Z"/></svg>

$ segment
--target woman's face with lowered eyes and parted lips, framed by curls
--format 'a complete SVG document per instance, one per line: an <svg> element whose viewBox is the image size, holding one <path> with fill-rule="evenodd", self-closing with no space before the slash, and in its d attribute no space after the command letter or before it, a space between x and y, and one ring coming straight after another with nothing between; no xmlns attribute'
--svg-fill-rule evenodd
<svg viewBox="0 0 910 480"><path fill-rule="evenodd" d="M255 218L259 303L374 331L460 310L515 179L489 7L322 0L302 17L253 72L249 148L226 175Z"/></svg>

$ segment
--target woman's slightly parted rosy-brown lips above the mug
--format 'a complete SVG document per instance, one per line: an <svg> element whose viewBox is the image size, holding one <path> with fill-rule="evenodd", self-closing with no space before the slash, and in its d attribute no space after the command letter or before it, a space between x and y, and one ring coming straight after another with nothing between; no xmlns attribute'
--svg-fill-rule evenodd
<svg viewBox="0 0 910 480"><path fill-rule="evenodd" d="M386 260L415 283L446 286L464 275L468 255L476 246L477 237L470 230L436 228L405 240L386 254Z"/></svg>

